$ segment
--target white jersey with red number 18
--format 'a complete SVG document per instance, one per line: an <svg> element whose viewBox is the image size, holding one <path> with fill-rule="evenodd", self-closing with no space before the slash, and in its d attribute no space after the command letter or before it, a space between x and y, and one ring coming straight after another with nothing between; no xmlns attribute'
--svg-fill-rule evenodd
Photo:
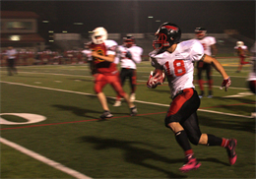
<svg viewBox="0 0 256 179"><path fill-rule="evenodd" d="M204 56L203 45L197 39L182 41L176 49L157 54L159 50L150 53L152 65L160 65L165 72L171 96L182 89L195 88L193 85L194 63Z"/></svg>

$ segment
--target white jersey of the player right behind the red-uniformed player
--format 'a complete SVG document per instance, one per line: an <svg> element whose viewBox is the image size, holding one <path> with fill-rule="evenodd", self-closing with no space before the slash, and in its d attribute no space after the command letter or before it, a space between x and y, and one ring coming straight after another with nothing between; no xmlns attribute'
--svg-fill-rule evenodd
<svg viewBox="0 0 256 179"><path fill-rule="evenodd" d="M128 51L132 55L132 60L125 56ZM121 46L118 46L118 52L119 52L119 55L115 58L114 63L117 64L120 61L121 68L136 69L136 64L141 63L142 61L141 56L143 53L143 49L139 46L133 45L130 48L127 48L121 45Z"/></svg>

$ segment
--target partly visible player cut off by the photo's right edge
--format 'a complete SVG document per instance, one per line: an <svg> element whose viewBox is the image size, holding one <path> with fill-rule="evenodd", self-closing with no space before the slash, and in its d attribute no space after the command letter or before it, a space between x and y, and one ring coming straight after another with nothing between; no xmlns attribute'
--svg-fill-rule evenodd
<svg viewBox="0 0 256 179"><path fill-rule="evenodd" d="M256 94L256 41L251 47L251 52L253 54L253 56L251 57L252 68L247 81L249 89ZM251 116L256 118L256 109L254 110L254 112L251 113Z"/></svg>

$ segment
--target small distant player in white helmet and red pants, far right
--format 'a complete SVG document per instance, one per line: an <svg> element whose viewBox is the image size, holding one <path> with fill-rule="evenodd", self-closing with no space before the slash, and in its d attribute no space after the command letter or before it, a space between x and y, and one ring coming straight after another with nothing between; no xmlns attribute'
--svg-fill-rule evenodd
<svg viewBox="0 0 256 179"><path fill-rule="evenodd" d="M234 50L237 53L237 56L239 57L239 65L237 67L236 73L241 72L242 66L249 64L250 62L246 62L245 58L249 54L248 48L246 45L244 45L243 41L237 41L236 46L234 46Z"/></svg>

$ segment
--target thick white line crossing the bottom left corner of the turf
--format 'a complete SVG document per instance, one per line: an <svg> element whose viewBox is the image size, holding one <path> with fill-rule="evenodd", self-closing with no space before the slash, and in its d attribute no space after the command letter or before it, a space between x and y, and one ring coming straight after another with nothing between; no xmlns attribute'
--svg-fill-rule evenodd
<svg viewBox="0 0 256 179"><path fill-rule="evenodd" d="M26 148L24 148L22 146L19 146L19 145L13 143L13 142L10 142L10 141L2 138L2 137L0 137L0 142L2 144L5 144L5 145L13 148L13 149L17 149L17 150L19 150L19 151L21 151L21 152L31 156L34 159L39 160L39 161L41 161L41 162L43 162L43 163L45 163L47 165L50 165L53 168L56 168L56 169L58 169L60 171L63 171L64 173L67 173L67 174L69 174L69 175L71 175L71 176L73 176L75 178L79 178L79 179L92 179L91 177L86 176L83 173L80 173L80 172L78 172L76 170L73 170L73 169L71 169L71 168L69 168L67 166L64 166L64 165L56 162L56 161L53 161L53 160L51 160L49 158L46 158L46 157L44 157L44 156L42 156L42 155L40 155L40 154L30 150L30 149L26 149Z"/></svg>

